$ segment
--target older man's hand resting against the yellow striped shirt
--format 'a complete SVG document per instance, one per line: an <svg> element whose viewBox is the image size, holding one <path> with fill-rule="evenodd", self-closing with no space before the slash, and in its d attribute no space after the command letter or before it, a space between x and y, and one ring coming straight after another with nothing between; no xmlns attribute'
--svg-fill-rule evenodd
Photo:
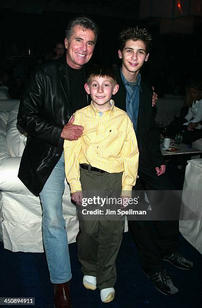
<svg viewBox="0 0 202 308"><path fill-rule="evenodd" d="M60 137L72 141L80 138L83 132L83 126L72 124L74 121L74 116L70 121L63 127Z"/></svg>

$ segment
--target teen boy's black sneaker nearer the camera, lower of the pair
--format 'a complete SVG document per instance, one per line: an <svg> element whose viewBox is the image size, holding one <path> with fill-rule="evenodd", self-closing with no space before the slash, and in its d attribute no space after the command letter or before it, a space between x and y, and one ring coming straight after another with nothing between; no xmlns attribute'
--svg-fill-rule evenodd
<svg viewBox="0 0 202 308"><path fill-rule="evenodd" d="M156 273L145 273L153 282L154 286L165 295L172 295L178 292L178 288L173 285L170 276L165 270Z"/></svg>

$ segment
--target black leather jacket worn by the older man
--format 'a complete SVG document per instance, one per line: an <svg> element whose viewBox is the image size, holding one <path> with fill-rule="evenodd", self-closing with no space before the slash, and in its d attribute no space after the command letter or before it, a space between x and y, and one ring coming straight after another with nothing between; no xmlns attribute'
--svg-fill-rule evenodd
<svg viewBox="0 0 202 308"><path fill-rule="evenodd" d="M20 102L18 124L28 138L18 177L35 195L62 155L64 140L60 134L72 114L68 93L68 66L62 57L32 74Z"/></svg>

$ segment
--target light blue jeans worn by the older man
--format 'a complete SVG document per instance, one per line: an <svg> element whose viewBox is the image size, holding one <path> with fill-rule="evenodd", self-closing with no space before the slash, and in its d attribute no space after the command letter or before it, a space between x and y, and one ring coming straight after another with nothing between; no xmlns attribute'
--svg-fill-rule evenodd
<svg viewBox="0 0 202 308"><path fill-rule="evenodd" d="M62 153L40 193L43 210L43 243L52 283L64 283L71 279L68 239L62 215L64 179L64 153Z"/></svg>

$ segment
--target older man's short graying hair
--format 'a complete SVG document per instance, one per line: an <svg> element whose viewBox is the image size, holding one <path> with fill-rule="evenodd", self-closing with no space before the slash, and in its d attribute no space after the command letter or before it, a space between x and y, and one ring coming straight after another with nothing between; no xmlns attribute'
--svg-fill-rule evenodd
<svg viewBox="0 0 202 308"><path fill-rule="evenodd" d="M73 27L74 26L80 26L83 30L84 29L89 29L92 30L95 34L95 42L97 39L97 35L99 32L99 28L98 25L92 21L91 19L89 19L88 17L75 17L73 19L71 19L67 25L67 29L66 29L66 38L69 41L72 34L73 34Z"/></svg>

